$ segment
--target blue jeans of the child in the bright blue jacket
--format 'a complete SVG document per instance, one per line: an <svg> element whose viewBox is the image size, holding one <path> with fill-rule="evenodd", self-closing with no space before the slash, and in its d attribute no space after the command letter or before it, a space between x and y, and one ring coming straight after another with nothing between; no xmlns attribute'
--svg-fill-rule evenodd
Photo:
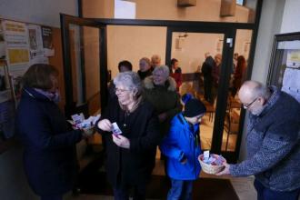
<svg viewBox="0 0 300 200"><path fill-rule="evenodd" d="M171 178L171 189L167 194L167 200L191 200L193 181L175 180Z"/></svg>

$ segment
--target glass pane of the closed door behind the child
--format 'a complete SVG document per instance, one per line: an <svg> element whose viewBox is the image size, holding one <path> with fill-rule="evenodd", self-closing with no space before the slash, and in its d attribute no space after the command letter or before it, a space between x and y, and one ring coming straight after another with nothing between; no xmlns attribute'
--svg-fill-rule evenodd
<svg viewBox="0 0 300 200"><path fill-rule="evenodd" d="M211 149L212 145L223 41L223 34L174 32L172 35L171 55L178 60L183 75L179 93L191 93L206 106L207 113L200 125L202 149Z"/></svg>

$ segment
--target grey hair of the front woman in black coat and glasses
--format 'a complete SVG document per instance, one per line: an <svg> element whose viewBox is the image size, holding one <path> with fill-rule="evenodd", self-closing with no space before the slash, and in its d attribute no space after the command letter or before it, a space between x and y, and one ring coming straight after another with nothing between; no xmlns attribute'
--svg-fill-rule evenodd
<svg viewBox="0 0 300 200"><path fill-rule="evenodd" d="M130 91L136 91L137 94L141 94L143 85L140 77L135 72L123 72L119 73L114 78L115 85L123 85Z"/></svg>

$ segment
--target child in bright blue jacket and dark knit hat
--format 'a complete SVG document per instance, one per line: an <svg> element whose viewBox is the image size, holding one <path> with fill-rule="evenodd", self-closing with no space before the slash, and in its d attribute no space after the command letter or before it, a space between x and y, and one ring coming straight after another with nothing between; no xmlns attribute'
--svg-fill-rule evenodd
<svg viewBox="0 0 300 200"><path fill-rule="evenodd" d="M205 112L201 101L194 98L187 101L185 111L172 119L170 131L160 145L172 184L168 200L192 199L193 181L201 169L197 159L201 155L199 125Z"/></svg>

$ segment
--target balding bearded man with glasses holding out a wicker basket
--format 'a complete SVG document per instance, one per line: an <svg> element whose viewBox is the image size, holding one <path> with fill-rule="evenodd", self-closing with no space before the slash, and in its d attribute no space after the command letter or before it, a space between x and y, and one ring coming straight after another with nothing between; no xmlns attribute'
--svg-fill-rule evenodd
<svg viewBox="0 0 300 200"><path fill-rule="evenodd" d="M275 86L247 81L238 94L250 113L247 159L225 164L217 175L255 175L258 200L298 200L300 193L300 104Z"/></svg>

